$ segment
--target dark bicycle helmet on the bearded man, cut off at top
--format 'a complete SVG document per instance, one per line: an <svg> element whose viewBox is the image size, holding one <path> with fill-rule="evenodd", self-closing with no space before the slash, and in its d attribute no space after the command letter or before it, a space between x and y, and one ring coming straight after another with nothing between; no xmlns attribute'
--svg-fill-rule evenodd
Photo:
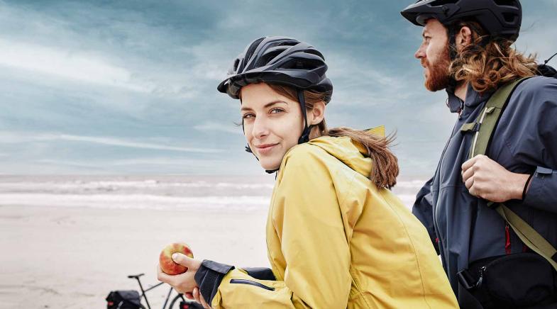
<svg viewBox="0 0 557 309"><path fill-rule="evenodd" d="M445 26L456 21L474 19L492 37L517 40L522 23L519 0L419 0L400 12L417 26L436 18Z"/></svg>

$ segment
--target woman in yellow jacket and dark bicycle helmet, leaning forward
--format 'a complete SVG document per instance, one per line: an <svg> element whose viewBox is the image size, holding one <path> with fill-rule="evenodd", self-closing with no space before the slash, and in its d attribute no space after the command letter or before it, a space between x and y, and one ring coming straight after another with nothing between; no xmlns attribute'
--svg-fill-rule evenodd
<svg viewBox="0 0 557 309"><path fill-rule="evenodd" d="M241 99L247 149L277 172L267 223L272 270L178 254L189 270L159 269L159 279L206 308L457 308L425 228L388 190L398 166L382 128L327 130L326 69L314 47L265 37L218 87Z"/></svg>

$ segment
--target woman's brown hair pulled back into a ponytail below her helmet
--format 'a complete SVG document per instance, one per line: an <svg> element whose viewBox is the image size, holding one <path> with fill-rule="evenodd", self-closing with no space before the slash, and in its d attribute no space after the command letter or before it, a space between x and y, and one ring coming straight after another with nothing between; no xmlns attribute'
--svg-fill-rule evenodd
<svg viewBox="0 0 557 309"><path fill-rule="evenodd" d="M279 84L268 84L277 93L286 96L292 101L298 101L297 91L289 86ZM312 110L317 102L325 101L327 96L331 94L316 91L304 91L304 99L306 108ZM355 130L351 128L333 128L327 129L325 119L311 129L310 138L320 136L350 137L352 140L359 142L368 151L368 157L373 161L373 169L369 175L369 179L377 188L392 188L397 184L397 176L399 173L398 160L395 154L389 149L389 145L395 140L395 135L380 137L373 135L364 130Z"/></svg>

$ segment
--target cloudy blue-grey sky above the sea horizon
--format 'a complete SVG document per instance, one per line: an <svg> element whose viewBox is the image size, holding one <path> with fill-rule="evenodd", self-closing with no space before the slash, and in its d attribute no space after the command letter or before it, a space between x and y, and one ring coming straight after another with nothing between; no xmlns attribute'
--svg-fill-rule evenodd
<svg viewBox="0 0 557 309"><path fill-rule="evenodd" d="M329 127L385 125L401 174L429 176L456 115L424 89L410 3L0 0L0 174L261 174L216 86L252 40L286 35L326 58ZM517 49L545 60L557 0L522 6Z"/></svg>

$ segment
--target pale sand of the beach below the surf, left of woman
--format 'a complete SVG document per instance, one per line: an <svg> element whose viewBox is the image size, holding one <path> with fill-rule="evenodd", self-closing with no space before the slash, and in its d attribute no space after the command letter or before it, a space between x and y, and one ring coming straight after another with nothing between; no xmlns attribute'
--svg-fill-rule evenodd
<svg viewBox="0 0 557 309"><path fill-rule="evenodd" d="M1 205L2 203L0 203ZM199 259L268 266L266 210L149 210L0 206L0 308L106 308L111 290L157 283L167 243ZM148 292L161 308L167 287Z"/></svg>

